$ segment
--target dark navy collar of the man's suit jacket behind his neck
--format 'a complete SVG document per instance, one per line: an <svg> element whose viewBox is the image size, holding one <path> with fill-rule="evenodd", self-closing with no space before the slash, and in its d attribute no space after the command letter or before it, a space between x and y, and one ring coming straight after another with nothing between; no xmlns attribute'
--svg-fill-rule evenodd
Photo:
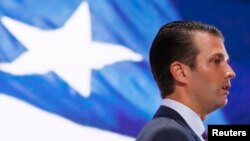
<svg viewBox="0 0 250 141"><path fill-rule="evenodd" d="M159 117L168 117L170 119L177 121L184 128L189 130L197 141L200 141L200 138L195 134L192 128L187 124L187 122L182 118L182 116L175 110L166 106L160 106L160 108L157 110L157 112L154 115L154 118L159 118Z"/></svg>

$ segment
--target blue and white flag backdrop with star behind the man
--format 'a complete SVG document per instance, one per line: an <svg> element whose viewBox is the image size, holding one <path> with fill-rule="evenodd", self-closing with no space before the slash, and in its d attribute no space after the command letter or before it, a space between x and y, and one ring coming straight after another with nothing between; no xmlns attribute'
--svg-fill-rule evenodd
<svg viewBox="0 0 250 141"><path fill-rule="evenodd" d="M160 26L225 36L229 104L206 124L249 124L250 2L0 0L0 140L132 141L161 104L148 52Z"/></svg>

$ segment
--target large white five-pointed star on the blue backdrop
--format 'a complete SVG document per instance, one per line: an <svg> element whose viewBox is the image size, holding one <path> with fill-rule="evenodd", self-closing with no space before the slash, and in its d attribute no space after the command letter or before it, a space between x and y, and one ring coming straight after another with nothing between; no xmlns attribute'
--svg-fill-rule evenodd
<svg viewBox="0 0 250 141"><path fill-rule="evenodd" d="M55 72L83 96L90 94L91 70L121 61L141 61L126 47L91 39L90 12L83 2L62 28L42 30L3 17L4 26L27 48L1 70L14 75Z"/></svg>

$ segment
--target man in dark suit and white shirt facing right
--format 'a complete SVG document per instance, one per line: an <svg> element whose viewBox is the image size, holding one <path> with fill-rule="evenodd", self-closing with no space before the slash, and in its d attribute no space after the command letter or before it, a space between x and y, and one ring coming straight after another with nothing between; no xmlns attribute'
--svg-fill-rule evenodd
<svg viewBox="0 0 250 141"><path fill-rule="evenodd" d="M164 25L150 50L163 103L136 141L203 141L206 116L227 104L230 79L222 33L195 21Z"/></svg>

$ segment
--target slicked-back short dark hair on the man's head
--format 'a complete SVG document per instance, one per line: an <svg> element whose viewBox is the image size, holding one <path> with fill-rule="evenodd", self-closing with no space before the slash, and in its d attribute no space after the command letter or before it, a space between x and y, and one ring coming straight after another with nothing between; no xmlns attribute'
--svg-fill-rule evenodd
<svg viewBox="0 0 250 141"><path fill-rule="evenodd" d="M163 25L158 31L150 49L149 61L162 98L174 91L175 81L170 72L170 65L174 61L195 69L199 50L193 43L192 35L196 32L209 33L224 39L215 26L196 21L174 21Z"/></svg>

